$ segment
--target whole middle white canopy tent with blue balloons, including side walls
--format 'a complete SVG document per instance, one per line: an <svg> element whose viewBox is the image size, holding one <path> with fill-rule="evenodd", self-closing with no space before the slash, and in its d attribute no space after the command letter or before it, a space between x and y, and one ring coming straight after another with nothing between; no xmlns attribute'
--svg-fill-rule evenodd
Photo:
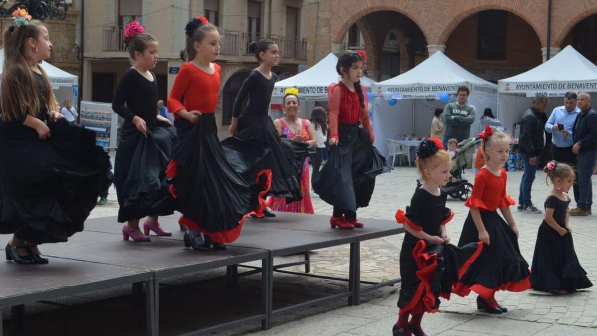
<svg viewBox="0 0 597 336"><path fill-rule="evenodd" d="M377 148L387 154L386 139L404 135L429 136L435 108L445 105L440 96L448 93L450 101L454 101L459 85L467 85L470 89L469 103L476 108L470 135L476 136L483 110L497 109L497 85L466 71L441 51L404 74L373 84L376 96L373 131ZM391 96L398 102L391 106L383 96Z"/></svg>

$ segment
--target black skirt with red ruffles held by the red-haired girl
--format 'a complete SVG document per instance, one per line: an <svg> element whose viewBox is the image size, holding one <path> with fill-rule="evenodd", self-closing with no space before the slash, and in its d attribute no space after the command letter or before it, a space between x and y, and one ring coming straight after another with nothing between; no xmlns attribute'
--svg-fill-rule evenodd
<svg viewBox="0 0 597 336"><path fill-rule="evenodd" d="M410 234L407 233L407 236ZM400 251L401 288L398 307L411 314L435 313L439 297L450 299L452 286L481 253L481 242L458 248L405 237Z"/></svg>

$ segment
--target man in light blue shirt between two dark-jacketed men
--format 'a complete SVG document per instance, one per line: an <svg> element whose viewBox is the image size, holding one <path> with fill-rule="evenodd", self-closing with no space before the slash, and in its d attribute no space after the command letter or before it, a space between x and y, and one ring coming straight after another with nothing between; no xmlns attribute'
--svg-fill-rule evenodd
<svg viewBox="0 0 597 336"><path fill-rule="evenodd" d="M553 109L545 123L546 132L552 133L552 156L553 160L570 164L576 172L576 154L572 152L574 145L573 126L574 120L580 114L580 108L576 106L576 93L570 91L564 96L564 106ZM560 129L559 126L564 126ZM573 185L574 200L578 201L578 184Z"/></svg>

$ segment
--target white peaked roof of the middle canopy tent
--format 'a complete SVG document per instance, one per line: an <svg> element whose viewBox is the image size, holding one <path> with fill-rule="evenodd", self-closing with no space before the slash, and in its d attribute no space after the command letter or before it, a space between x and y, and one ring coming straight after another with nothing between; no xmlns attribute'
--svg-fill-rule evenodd
<svg viewBox="0 0 597 336"><path fill-rule="evenodd" d="M467 85L471 94L497 94L496 84L471 74L441 51L404 74L373 84L371 91L377 95L390 91L396 99L435 98L456 93L458 85Z"/></svg>

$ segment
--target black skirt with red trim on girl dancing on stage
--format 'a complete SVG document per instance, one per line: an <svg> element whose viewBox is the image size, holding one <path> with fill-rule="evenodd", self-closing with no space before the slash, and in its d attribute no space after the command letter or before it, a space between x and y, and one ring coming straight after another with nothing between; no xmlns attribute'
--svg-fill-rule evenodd
<svg viewBox="0 0 597 336"><path fill-rule="evenodd" d="M234 242L245 217L262 215L271 184L269 170L247 182L227 161L217 136L216 118L203 114L196 124L174 121L179 143L168 166L171 193L180 200L180 224L200 231L214 242Z"/></svg>

